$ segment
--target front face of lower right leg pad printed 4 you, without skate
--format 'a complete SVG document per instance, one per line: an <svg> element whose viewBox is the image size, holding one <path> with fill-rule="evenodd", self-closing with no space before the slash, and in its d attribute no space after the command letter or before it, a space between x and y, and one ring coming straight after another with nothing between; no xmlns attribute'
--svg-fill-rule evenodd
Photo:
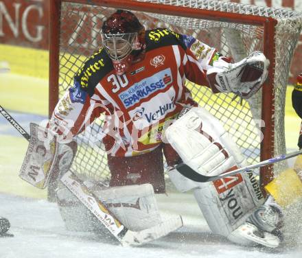
<svg viewBox="0 0 302 258"><path fill-rule="evenodd" d="M264 202L257 197L253 174L237 174L194 189L194 196L213 233L228 237Z"/></svg>

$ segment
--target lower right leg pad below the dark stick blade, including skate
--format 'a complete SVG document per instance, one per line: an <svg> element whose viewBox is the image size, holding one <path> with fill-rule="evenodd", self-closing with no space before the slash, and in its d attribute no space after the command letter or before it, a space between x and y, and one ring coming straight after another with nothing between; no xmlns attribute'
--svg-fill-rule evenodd
<svg viewBox="0 0 302 258"><path fill-rule="evenodd" d="M243 174L242 176L245 176L244 179L247 183L230 187L227 196L223 198L220 197L220 194L217 196L218 192L227 191L227 184L234 184L235 177L233 177L233 180L225 178L223 181L216 180L214 183L196 183L185 178L176 169L171 170L169 176L179 191L194 189L198 206L207 220L209 228L214 233L224 235L231 242L245 246L262 244L275 248L279 245L280 234L278 233L279 226L277 224L280 224L281 217L279 212L274 212L276 211L275 206L271 204L257 208L257 205L262 203L263 198L262 195L259 195L261 191L253 174ZM218 191L211 188L213 185ZM246 188L245 191L244 188ZM253 194L249 200L246 193L251 192ZM252 198L252 202L249 202ZM268 231L275 231L278 235L272 235Z"/></svg>

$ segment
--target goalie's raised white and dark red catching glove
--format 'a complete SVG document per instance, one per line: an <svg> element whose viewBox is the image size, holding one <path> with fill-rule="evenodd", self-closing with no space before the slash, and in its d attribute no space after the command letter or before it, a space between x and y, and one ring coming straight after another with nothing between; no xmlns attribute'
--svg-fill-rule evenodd
<svg viewBox="0 0 302 258"><path fill-rule="evenodd" d="M235 93L243 99L254 95L268 76L270 62L262 52L255 51L240 62L231 64L219 58L207 70L213 93Z"/></svg>

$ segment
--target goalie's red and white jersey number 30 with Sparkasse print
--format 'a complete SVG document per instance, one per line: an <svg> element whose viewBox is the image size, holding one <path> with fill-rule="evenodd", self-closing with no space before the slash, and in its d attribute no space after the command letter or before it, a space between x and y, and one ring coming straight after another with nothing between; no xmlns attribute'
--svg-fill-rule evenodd
<svg viewBox="0 0 302 258"><path fill-rule="evenodd" d="M116 75L104 49L78 71L74 85L58 102L51 130L75 135L101 113L98 137L112 156L154 150L184 106L195 106L186 80L208 86L205 72L220 55L196 38L167 29L146 31L146 52L124 75ZM65 128L65 129L63 129Z"/></svg>

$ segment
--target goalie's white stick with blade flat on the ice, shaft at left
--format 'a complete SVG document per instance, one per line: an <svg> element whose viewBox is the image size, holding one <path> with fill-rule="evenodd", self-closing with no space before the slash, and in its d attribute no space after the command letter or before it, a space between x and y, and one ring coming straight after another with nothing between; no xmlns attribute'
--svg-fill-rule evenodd
<svg viewBox="0 0 302 258"><path fill-rule="evenodd" d="M10 124L12 124L27 141L29 141L30 134L28 134L1 106L0 108L2 115L5 116L5 118L9 117L9 119L7 119L10 121ZM142 231L130 231L130 229L126 228L126 226L115 218L115 216L107 209L106 204L97 198L94 193L89 191L82 180L75 176L75 174L68 171L62 175L61 181L80 200L80 202L82 202L82 204L84 204L87 209L104 224L108 231L110 231L123 246L139 246L141 244L146 244L183 226L181 216L177 216L170 220L165 220L151 228L143 229Z"/></svg>

